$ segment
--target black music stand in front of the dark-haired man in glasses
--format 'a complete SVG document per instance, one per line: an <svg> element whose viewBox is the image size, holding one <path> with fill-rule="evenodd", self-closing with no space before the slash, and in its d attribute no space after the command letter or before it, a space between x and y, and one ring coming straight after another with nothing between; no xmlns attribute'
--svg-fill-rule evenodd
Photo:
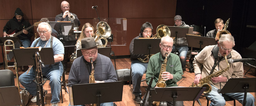
<svg viewBox="0 0 256 106"><path fill-rule="evenodd" d="M160 52L161 39L134 39L134 54L156 54ZM150 56L149 56L150 58Z"/></svg>

